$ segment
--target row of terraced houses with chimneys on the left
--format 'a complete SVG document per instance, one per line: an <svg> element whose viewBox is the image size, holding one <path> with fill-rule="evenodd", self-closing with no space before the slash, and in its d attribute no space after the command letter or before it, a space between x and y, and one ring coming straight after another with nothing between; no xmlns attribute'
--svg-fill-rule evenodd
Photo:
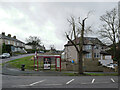
<svg viewBox="0 0 120 90"><path fill-rule="evenodd" d="M2 54L3 44L5 44L7 47L10 48L10 51L8 53L13 53L13 52L27 53L25 51L25 43L18 40L16 36L11 37L11 34L5 35L5 32L2 32L2 34L0 34L1 54Z"/></svg>

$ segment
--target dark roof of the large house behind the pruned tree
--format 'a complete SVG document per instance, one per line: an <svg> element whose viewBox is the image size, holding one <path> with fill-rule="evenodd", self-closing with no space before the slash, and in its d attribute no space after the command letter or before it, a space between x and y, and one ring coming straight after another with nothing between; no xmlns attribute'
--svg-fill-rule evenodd
<svg viewBox="0 0 120 90"><path fill-rule="evenodd" d="M79 44L79 38L76 39L77 41L77 44ZM73 42L75 42L75 39L73 40ZM88 44L91 44L91 45L96 45L96 44L99 44L99 45L103 45L105 46L98 38L94 38L94 37L84 37L84 45L88 45ZM72 43L70 41L68 41L67 44L65 44L65 46L72 46Z"/></svg>

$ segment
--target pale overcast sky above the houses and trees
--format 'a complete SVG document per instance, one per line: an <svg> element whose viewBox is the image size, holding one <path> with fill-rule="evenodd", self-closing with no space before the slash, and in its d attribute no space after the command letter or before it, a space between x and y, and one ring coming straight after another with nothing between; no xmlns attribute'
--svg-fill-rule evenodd
<svg viewBox="0 0 120 90"><path fill-rule="evenodd" d="M0 33L11 34L26 43L29 36L38 36L47 49L54 45L63 50L67 43L65 32L71 27L70 16L86 17L91 11L86 25L92 26L98 37L100 16L117 7L117 2L0 2Z"/></svg>

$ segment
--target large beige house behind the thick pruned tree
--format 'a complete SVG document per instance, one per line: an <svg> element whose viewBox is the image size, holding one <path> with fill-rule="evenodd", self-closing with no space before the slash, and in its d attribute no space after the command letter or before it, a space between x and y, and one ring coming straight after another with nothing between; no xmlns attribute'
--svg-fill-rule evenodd
<svg viewBox="0 0 120 90"><path fill-rule="evenodd" d="M73 40L75 41L75 40ZM77 38L77 44L79 44L79 38ZM67 44L64 45L64 57L67 61L75 60L77 63L77 51L75 47L68 41ZM104 51L106 45L104 45L98 38L93 37L84 37L84 45L83 45L83 60L99 60L101 59L101 51Z"/></svg>

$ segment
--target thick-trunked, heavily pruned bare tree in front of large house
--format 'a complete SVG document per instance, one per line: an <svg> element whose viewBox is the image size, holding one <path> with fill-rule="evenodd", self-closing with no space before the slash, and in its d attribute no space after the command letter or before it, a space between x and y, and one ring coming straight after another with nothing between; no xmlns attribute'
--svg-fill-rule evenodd
<svg viewBox="0 0 120 90"><path fill-rule="evenodd" d="M88 13L89 15L89 13ZM77 51L77 59L78 59L78 74L83 74L83 41L84 41L84 33L85 33L85 21L88 19L88 15L83 20L78 18L78 21L75 21L75 18L71 16L68 19L68 22L72 26L72 30L69 34L66 33L67 39L72 43ZM90 27L88 28L90 30ZM72 39L73 38L73 39ZM79 41L77 39L79 38Z"/></svg>

